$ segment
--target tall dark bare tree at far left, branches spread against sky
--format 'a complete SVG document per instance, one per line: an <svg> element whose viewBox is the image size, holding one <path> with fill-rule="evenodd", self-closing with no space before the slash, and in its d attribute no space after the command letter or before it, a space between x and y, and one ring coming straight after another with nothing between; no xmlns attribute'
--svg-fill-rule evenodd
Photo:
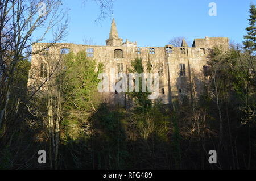
<svg viewBox="0 0 256 181"><path fill-rule="evenodd" d="M14 74L20 57L28 58L34 53L32 45L44 40L53 32L51 47L63 39L67 33L67 13L61 9L59 0L3 0L0 2L0 66L2 79L2 103L0 107L0 127L5 115L10 92L13 89ZM32 36L40 31L38 37Z"/></svg>

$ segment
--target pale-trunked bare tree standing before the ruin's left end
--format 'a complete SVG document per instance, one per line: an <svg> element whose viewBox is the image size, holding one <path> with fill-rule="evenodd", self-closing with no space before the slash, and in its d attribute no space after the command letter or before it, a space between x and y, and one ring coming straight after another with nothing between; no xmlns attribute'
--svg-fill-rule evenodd
<svg viewBox="0 0 256 181"><path fill-rule="evenodd" d="M46 45L47 47L47 45ZM28 91L34 92L29 104L25 103L32 115L43 121L44 140L49 144L49 163L57 169L59 161L59 134L62 116L62 97L64 82L56 81L64 74L63 54L55 48L34 55L31 65ZM36 90L36 91L35 91Z"/></svg>

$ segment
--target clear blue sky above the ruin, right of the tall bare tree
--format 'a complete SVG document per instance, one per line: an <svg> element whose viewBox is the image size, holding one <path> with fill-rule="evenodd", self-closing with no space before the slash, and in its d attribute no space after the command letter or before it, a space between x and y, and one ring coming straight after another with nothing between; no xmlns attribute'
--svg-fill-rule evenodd
<svg viewBox="0 0 256 181"><path fill-rule="evenodd" d="M255 0L256 1L256 0ZM115 0L113 17L119 37L137 41L138 47L164 47L172 37L229 37L241 43L248 26L251 0ZM217 16L209 16L210 2L217 5ZM69 9L68 36L65 42L84 44L91 39L105 45L112 18L100 23L99 6L93 0L64 0Z"/></svg>

